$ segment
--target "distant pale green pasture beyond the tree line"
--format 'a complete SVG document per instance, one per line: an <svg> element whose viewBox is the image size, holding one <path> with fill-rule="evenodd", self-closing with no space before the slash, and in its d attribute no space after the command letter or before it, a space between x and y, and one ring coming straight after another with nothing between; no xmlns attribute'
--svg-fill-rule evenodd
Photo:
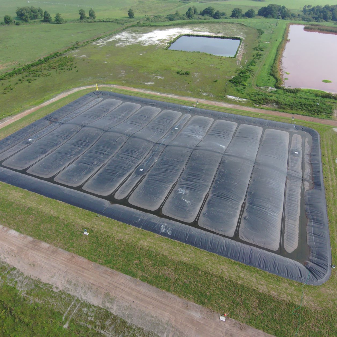
<svg viewBox="0 0 337 337"><path fill-rule="evenodd" d="M55 13L61 13L65 20L78 19L79 9L84 9L88 14L90 8L94 8L96 16L99 19L103 18L127 18L127 10L132 8L135 12L135 19L144 18L145 15L166 15L174 13L178 10L179 13L185 13L187 8L190 6L195 6L198 11L203 10L208 6L214 7L216 10L225 11L228 16L230 16L233 8L240 7L243 12L250 8L253 8L256 12L259 8L263 6L268 6L269 4L276 3L278 5L284 5L287 8L293 10L295 13L299 13L303 6L312 5L324 6L326 4L334 5L336 4L333 0L265 0L265 1L253 1L253 0L206 0L199 2L196 0L192 1L180 1L180 0L114 0L113 2L109 0L101 0L99 2L93 3L89 0L32 0L27 4L27 1L18 0L0 0L0 7L2 12L0 14L0 21L3 21L3 16L8 14L11 17L16 16L17 7L21 6L34 6L41 7L43 10L47 10L54 18Z"/></svg>

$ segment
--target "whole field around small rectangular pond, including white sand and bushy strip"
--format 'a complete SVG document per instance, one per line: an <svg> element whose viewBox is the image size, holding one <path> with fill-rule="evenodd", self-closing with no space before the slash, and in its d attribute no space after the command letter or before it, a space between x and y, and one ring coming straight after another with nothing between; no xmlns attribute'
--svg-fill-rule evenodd
<svg viewBox="0 0 337 337"><path fill-rule="evenodd" d="M184 93L220 101L224 100L227 83L228 95L248 99L240 104L332 118L333 110L337 110L336 100L321 99L316 109L318 91L301 91L294 104L292 94L283 90L267 93L258 88L275 85L270 69L286 24L283 20L241 19L178 21L128 28L122 35L71 51L67 54L68 59L50 60L1 81L0 106L3 108L0 118L25 110L65 89L95 83L128 85L178 95ZM176 33L166 38L167 43L170 38L180 35L181 30L190 28L198 32L243 37L239 59L164 50L165 41L158 36L174 29ZM258 32L262 33L259 38ZM158 41L148 43L156 37ZM229 81L249 64L253 65L249 66L245 85L235 86ZM190 74L181 76L177 74L178 70ZM228 98L225 100L233 102Z"/></svg>

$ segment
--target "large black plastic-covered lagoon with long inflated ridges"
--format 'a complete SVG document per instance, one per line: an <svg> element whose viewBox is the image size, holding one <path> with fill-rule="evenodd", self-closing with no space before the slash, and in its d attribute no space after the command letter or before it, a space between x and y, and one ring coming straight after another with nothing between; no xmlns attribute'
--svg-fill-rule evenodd
<svg viewBox="0 0 337 337"><path fill-rule="evenodd" d="M320 156L310 128L93 92L1 140L0 180L318 285Z"/></svg>

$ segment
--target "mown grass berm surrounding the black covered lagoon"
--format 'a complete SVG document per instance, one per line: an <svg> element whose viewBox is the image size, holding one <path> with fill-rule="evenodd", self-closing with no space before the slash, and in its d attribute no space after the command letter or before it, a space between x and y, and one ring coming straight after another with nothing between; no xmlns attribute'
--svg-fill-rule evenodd
<svg viewBox="0 0 337 337"><path fill-rule="evenodd" d="M104 90L104 89L103 89ZM4 137L56 110L90 90L61 99L0 130ZM129 92L116 90L130 94ZM146 96L142 94L142 96ZM154 98L151 95L148 98ZM177 99L164 99L188 104ZM201 108L253 117L200 104ZM288 118L264 115L262 118L289 122ZM322 160L332 261L337 258L337 137L332 127L301 121L321 136ZM301 284L248 267L230 259L157 236L94 213L0 184L0 223L36 239L51 243L91 261L136 277L217 312L276 336L294 335L298 316L292 314L301 301ZM90 236L84 238L83 228ZM86 243L84 240L86 239ZM304 299L298 336L336 335L336 272L321 286L304 286ZM297 311L298 312L298 311Z"/></svg>

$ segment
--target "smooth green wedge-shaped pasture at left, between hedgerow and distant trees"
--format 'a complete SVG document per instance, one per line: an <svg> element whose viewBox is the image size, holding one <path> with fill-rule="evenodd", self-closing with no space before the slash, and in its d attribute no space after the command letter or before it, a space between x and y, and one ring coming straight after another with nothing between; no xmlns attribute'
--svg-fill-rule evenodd
<svg viewBox="0 0 337 337"><path fill-rule="evenodd" d="M113 22L0 26L0 71L64 50L76 41L111 34L122 27Z"/></svg>

